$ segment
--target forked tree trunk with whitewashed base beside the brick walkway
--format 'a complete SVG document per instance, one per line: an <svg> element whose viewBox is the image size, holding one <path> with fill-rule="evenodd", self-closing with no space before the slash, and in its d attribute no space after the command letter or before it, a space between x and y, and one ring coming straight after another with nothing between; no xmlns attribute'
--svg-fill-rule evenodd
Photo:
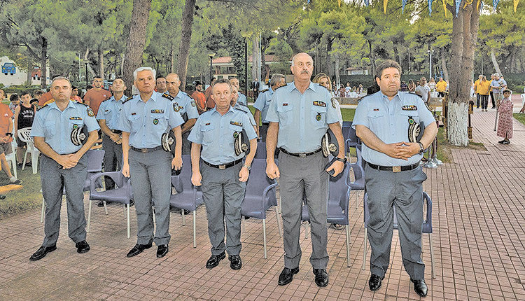
<svg viewBox="0 0 525 301"><path fill-rule="evenodd" d="M461 1L460 7L464 6ZM461 8L452 19L451 69L447 116L447 139L454 146L468 146L468 101L470 75L474 69L474 50L479 27L475 2ZM454 6L448 6L455 10Z"/></svg>

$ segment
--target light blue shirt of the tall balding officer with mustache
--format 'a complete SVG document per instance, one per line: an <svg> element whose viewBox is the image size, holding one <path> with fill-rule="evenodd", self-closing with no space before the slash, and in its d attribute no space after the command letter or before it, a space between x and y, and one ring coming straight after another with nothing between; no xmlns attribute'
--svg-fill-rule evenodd
<svg viewBox="0 0 525 301"><path fill-rule="evenodd" d="M332 106L330 92L310 83L303 94L295 83L275 90L266 119L279 123L277 146L290 153L310 153L321 148L328 125L339 122L338 109Z"/></svg>

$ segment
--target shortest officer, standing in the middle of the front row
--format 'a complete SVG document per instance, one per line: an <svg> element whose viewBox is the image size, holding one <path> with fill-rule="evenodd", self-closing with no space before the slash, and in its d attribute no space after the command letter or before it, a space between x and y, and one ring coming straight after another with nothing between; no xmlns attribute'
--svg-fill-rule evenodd
<svg viewBox="0 0 525 301"><path fill-rule="evenodd" d="M245 113L234 110L232 86L226 79L216 80L213 87L214 109L202 113L188 139L192 142L191 181L201 186L208 216L208 234L211 257L206 267L216 267L225 258L232 269L240 269L241 252L241 203L244 200L246 181L251 162L257 149L257 135ZM246 132L250 152L235 154L234 139ZM202 146L202 151L201 151ZM224 221L228 239L224 244Z"/></svg>

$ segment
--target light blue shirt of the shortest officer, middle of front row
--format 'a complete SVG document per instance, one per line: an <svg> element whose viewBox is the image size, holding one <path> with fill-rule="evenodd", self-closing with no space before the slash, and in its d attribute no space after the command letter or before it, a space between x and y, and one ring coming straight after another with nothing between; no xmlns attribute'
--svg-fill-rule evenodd
<svg viewBox="0 0 525 301"><path fill-rule="evenodd" d="M195 144L202 144L202 160L213 165L221 165L244 157L235 155L234 133L246 131L248 139L257 138L255 130L246 113L230 106L224 115L214 108L201 114L188 136Z"/></svg>

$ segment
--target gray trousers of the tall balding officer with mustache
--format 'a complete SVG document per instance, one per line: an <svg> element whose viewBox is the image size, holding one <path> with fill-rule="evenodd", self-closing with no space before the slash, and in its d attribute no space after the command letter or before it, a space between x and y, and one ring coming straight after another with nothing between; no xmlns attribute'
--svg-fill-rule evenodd
<svg viewBox="0 0 525 301"><path fill-rule="evenodd" d="M325 165L328 158L321 152L299 158L279 153L279 190L283 218L284 267L299 266L301 246L299 244L302 200L305 196L311 223L310 263L314 269L325 269L328 265L326 243L326 214L328 202L328 174Z"/></svg>

